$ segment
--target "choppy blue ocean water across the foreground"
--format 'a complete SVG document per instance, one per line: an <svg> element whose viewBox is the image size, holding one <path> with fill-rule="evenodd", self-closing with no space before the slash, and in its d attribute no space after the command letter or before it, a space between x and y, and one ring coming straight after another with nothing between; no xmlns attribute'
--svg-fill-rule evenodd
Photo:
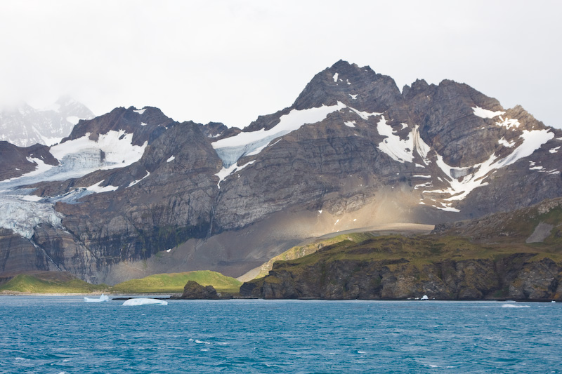
<svg viewBox="0 0 562 374"><path fill-rule="evenodd" d="M0 373L562 373L562 303L0 297Z"/></svg>

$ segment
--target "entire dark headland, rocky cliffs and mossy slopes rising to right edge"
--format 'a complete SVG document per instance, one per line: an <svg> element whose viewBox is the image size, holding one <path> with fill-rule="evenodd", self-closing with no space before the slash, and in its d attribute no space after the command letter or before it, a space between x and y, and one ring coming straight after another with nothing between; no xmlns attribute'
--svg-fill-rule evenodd
<svg viewBox="0 0 562 374"><path fill-rule="evenodd" d="M561 230L562 199L552 199L438 225L429 236L336 243L303 258L275 262L267 276L244 283L240 294L270 299L428 295L440 300L562 300Z"/></svg>

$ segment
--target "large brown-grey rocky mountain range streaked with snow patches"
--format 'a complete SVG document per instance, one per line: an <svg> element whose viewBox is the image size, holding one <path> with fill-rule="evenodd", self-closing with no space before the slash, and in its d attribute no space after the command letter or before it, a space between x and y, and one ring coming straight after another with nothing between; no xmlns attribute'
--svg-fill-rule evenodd
<svg viewBox="0 0 562 374"><path fill-rule="evenodd" d="M344 61L243 129L117 108L80 121L52 158L20 149L34 171L4 167L0 272L240 276L310 237L562 196L561 146L562 131L466 84L400 91Z"/></svg>

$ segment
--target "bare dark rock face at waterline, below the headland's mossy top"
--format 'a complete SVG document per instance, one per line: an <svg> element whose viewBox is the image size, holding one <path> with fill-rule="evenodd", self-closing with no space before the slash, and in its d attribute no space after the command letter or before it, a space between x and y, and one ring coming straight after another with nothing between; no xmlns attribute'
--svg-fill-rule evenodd
<svg viewBox="0 0 562 374"><path fill-rule="evenodd" d="M498 260L319 262L295 272L276 263L268 276L244 283L240 295L266 299L562 300L562 264L518 253Z"/></svg>

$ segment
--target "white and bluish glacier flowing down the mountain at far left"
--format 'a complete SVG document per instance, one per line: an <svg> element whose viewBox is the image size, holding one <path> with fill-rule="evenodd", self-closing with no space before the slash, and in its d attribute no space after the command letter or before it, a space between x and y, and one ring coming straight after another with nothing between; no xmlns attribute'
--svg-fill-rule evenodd
<svg viewBox="0 0 562 374"><path fill-rule="evenodd" d="M63 196L40 199L31 195L30 189L20 186L37 182L79 178L100 169L122 168L141 159L145 144L133 145L133 134L124 131L110 131L99 135L97 141L89 139L89 133L81 138L63 142L51 147L50 152L58 160L58 166L44 163L42 159L28 158L37 164L34 171L18 178L0 181L0 227L12 229L27 239L33 236L33 229L40 223L60 226L62 216L53 208L55 201L73 203L87 194L115 191L117 186L101 187L103 180L88 187L79 187ZM132 184L131 184L132 185Z"/></svg>

